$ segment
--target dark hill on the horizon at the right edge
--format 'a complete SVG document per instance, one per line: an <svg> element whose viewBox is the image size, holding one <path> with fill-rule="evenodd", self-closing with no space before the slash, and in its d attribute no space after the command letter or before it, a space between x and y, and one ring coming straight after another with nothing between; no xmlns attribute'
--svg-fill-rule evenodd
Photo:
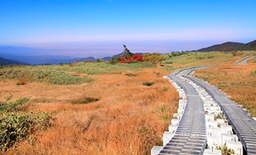
<svg viewBox="0 0 256 155"><path fill-rule="evenodd" d="M250 43L234 43L234 42L221 43L221 44L213 45L211 47L199 49L198 51L210 52L210 51L234 51L234 50L256 50L256 40Z"/></svg>

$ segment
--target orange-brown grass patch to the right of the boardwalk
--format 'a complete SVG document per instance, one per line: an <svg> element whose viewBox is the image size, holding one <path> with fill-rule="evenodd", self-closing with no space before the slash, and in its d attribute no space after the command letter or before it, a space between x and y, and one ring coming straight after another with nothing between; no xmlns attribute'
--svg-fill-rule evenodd
<svg viewBox="0 0 256 155"><path fill-rule="evenodd" d="M223 64L196 71L196 76L209 81L225 92L230 98L256 116L255 63Z"/></svg>

